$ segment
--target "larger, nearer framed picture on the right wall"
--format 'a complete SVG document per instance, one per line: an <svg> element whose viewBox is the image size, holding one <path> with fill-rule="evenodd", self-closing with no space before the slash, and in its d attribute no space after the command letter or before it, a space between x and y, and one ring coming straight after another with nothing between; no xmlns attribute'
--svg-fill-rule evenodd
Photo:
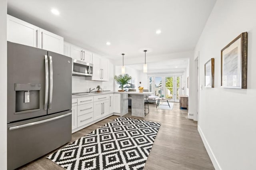
<svg viewBox="0 0 256 170"><path fill-rule="evenodd" d="M221 87L247 89L247 37L243 32L221 50Z"/></svg>

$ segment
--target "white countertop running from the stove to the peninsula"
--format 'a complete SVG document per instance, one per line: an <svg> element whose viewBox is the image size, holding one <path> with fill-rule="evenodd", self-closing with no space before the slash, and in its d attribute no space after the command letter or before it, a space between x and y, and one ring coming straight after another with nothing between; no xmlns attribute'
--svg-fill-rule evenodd
<svg viewBox="0 0 256 170"><path fill-rule="evenodd" d="M81 92L81 93L86 93L86 92ZM106 94L111 94L111 93L120 93L120 94L130 94L130 95L150 95L153 94L153 92L136 92L136 91L103 91L102 93L86 93L86 95L72 95L72 99L77 99L77 98L81 98L81 97L90 97L90 96L96 96L96 95L106 95Z"/></svg>

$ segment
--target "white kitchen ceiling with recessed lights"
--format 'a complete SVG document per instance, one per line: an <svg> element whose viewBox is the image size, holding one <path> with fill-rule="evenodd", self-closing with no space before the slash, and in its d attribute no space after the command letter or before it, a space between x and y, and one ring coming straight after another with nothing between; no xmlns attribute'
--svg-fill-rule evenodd
<svg viewBox="0 0 256 170"><path fill-rule="evenodd" d="M216 0L8 0L8 14L111 59L192 51ZM59 10L55 16L51 9ZM156 30L162 33L156 35ZM106 45L106 42L111 45Z"/></svg>

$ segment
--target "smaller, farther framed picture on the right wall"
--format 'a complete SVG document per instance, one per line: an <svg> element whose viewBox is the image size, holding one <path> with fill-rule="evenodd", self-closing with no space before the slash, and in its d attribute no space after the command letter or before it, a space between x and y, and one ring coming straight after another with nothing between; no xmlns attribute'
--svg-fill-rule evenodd
<svg viewBox="0 0 256 170"><path fill-rule="evenodd" d="M204 87L214 87L214 58L204 64Z"/></svg>

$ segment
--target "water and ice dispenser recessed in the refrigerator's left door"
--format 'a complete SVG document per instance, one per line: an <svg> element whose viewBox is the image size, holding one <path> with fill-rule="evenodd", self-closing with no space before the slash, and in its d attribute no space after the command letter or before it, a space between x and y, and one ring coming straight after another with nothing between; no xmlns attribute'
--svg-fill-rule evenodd
<svg viewBox="0 0 256 170"><path fill-rule="evenodd" d="M15 114L40 110L40 83L15 83Z"/></svg>

